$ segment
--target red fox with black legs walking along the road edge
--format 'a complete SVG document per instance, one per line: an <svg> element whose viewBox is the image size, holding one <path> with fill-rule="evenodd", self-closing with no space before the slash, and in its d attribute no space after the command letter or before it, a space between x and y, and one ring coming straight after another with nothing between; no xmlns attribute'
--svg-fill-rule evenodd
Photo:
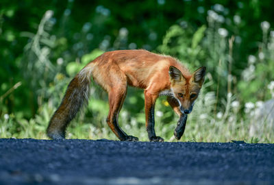
<svg viewBox="0 0 274 185"><path fill-rule="evenodd" d="M155 135L154 130L154 106L160 95L167 96L171 108L180 116L177 131L174 133L179 139L184 133L187 114L192 111L205 75L205 66L190 73L175 58L146 50L105 52L88 63L71 80L62 103L49 121L47 136L53 139L65 138L67 125L88 101L92 77L108 93L110 110L106 122L120 140L138 140L125 134L118 123L127 86L145 90L145 117L149 140L164 141Z"/></svg>

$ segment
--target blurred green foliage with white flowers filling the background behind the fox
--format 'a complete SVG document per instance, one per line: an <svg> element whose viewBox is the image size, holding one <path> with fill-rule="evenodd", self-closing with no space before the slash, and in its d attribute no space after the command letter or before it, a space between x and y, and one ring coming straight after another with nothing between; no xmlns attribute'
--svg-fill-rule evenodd
<svg viewBox="0 0 274 185"><path fill-rule="evenodd" d="M216 123L227 121L234 126L227 125L231 132L219 140L237 136L237 130L240 137L258 140L249 136L251 118L243 110L249 101L274 97L273 5L271 0L2 0L0 137L45 138L66 86L88 62L105 51L147 49L174 56L191 71L207 66L199 108L189 118L188 140L212 141L221 130ZM93 84L91 94L91 103L69 127L69 137L88 130L86 138L115 138L105 124L106 93ZM156 132L170 138L175 125L170 123L177 118L166 103L164 97L158 100L156 121L161 124ZM239 125L242 117L245 126ZM142 90L129 88L120 120L126 132L146 138ZM208 138L203 138L199 131L206 123L214 132L205 130Z"/></svg>

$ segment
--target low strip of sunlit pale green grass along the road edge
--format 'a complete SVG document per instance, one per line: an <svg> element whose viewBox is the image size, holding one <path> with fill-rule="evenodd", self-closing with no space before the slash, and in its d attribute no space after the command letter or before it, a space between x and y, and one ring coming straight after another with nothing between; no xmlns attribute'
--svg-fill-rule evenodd
<svg viewBox="0 0 274 185"><path fill-rule="evenodd" d="M212 114L215 102L214 93L201 93L192 113L188 116L186 130L180 141L230 142L231 140L245 140L247 143L274 143L274 135L271 134L271 126L268 123L253 123L254 116L249 114L240 116L240 112L236 112L237 108L233 106L229 106L227 115L220 112ZM92 120L90 122L86 121L88 118L84 113L79 114L69 125L66 138L118 140L105 123L108 114L107 101L91 98L88 108L92 107L92 104L97 106L97 103L100 103L101 109L105 111L100 111L96 117L90 119ZM155 132L166 141L176 141L173 131L178 117L166 105L164 97L160 97L156 103ZM88 108L84 108L84 110L89 110ZM45 106L39 115L29 121L16 119L13 114L7 114L8 116L5 115L5 118L1 119L0 137L47 139L45 130L52 114L53 108L50 106ZM170 118L171 121L166 121ZM137 136L141 141L148 140L144 110L133 116L128 110L122 109L119 121L127 134ZM253 127L254 124L260 124L260 126Z"/></svg>

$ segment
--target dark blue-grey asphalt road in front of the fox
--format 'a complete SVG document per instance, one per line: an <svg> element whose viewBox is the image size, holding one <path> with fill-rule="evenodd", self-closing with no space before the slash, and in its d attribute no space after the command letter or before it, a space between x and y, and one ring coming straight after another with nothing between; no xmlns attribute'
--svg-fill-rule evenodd
<svg viewBox="0 0 274 185"><path fill-rule="evenodd" d="M0 184L274 184L274 144L0 139Z"/></svg>

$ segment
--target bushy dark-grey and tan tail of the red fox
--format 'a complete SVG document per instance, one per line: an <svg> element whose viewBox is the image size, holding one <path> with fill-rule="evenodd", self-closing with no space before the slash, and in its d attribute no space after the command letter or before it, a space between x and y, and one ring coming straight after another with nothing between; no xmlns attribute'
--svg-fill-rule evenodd
<svg viewBox="0 0 274 185"><path fill-rule="evenodd" d="M52 139L62 139L66 134L66 127L88 102L90 93L90 77L92 69L86 66L69 83L59 108L55 111L47 127L47 136Z"/></svg>

